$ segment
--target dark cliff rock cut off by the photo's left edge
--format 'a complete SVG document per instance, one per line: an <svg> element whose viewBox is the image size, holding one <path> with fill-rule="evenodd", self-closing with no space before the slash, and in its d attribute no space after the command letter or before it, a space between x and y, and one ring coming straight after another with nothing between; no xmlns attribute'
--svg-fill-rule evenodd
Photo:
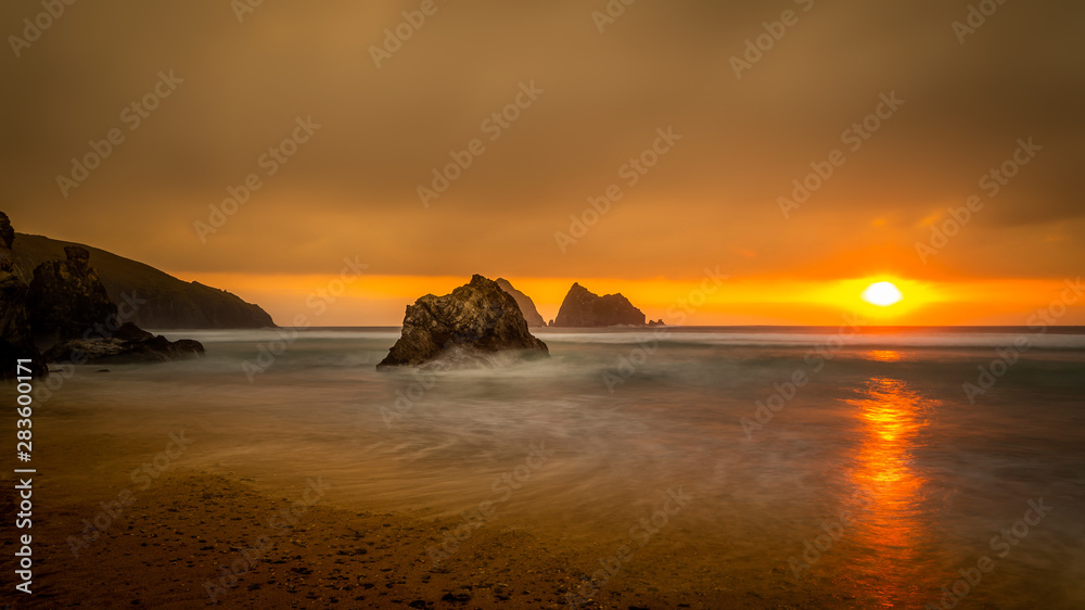
<svg viewBox="0 0 1085 610"><path fill-rule="evenodd" d="M30 377L49 373L30 333L27 309L29 287L14 272L11 246L15 230L8 215L0 212L0 379L14 379L17 359L29 359ZM25 373L25 371L23 371Z"/></svg>

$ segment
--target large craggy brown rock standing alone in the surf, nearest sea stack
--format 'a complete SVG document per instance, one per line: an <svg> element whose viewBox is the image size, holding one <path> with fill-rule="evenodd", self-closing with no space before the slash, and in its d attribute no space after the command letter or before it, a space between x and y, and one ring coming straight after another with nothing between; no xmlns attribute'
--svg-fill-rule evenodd
<svg viewBox="0 0 1085 610"><path fill-rule="evenodd" d="M444 296L426 294L407 306L399 341L378 369L414 366L442 356L482 356L520 351L549 356L532 335L511 294L494 280L473 276L471 283Z"/></svg>

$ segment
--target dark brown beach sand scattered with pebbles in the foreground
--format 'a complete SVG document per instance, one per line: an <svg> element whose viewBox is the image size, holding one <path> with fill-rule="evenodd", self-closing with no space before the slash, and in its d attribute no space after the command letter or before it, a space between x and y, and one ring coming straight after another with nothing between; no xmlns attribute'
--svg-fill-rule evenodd
<svg viewBox="0 0 1085 610"><path fill-rule="evenodd" d="M299 493L302 492L302 493ZM296 497L292 497L296 496ZM310 493L310 499L316 494ZM616 541L578 548L560 536L488 523L435 567L426 547L458 521L349 512L294 504L251 483L179 472L137 497L98 539L77 545L88 507L101 497L58 501L42 485L36 505L35 594L18 608L558 608L589 577L574 565L608 555ZM304 503L304 500L303 500ZM293 507L296 523L283 511ZM4 522L10 522L10 514ZM269 520L278 519L275 524ZM254 555L261 536L273 543ZM12 551L4 537L3 554ZM224 567L233 565L227 575ZM713 569L710 569L713 568ZM841 607L847 600L797 590L766 595L716 572L711 549L653 541L582 608ZM239 574L240 573L240 574ZM780 580L778 574L774 580ZM212 594L216 601L212 601Z"/></svg>

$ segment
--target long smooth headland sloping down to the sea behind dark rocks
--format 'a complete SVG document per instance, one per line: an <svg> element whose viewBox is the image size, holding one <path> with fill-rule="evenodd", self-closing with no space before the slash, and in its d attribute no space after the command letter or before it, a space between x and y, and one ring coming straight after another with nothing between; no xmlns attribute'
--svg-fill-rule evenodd
<svg viewBox="0 0 1085 610"><path fill-rule="evenodd" d="M64 249L90 253L111 301L124 308L136 304L131 322L143 328L212 329L271 328L271 316L239 296L200 282L181 281L153 267L95 247L17 233L15 274L29 283L42 263L64 258Z"/></svg>

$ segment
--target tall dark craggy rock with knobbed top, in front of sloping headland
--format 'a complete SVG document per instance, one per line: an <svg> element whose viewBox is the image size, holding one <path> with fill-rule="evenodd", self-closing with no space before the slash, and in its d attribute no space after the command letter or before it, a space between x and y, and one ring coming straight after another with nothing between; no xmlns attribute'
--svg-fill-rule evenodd
<svg viewBox="0 0 1085 610"><path fill-rule="evenodd" d="M27 296L30 328L37 340L56 338L60 341L81 338L95 325L101 328L116 318L117 306L90 266L90 253L85 247L64 249L66 260L48 260L38 265Z"/></svg>

